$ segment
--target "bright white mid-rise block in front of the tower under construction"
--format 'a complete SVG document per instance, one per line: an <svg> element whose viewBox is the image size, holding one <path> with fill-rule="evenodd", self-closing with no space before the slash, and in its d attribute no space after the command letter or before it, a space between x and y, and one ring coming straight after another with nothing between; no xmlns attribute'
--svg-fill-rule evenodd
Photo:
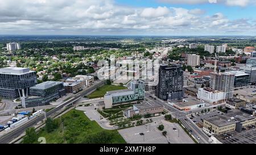
<svg viewBox="0 0 256 155"><path fill-rule="evenodd" d="M224 92L218 91L218 90L212 90L209 88L198 89L197 98L212 104L225 102Z"/></svg>

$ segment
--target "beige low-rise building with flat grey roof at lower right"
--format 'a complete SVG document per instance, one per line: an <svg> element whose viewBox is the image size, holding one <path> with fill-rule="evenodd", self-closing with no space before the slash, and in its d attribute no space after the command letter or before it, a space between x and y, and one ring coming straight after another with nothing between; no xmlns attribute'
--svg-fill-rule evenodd
<svg viewBox="0 0 256 155"><path fill-rule="evenodd" d="M207 135L220 135L227 132L241 132L256 124L256 117L240 110L231 110L228 114L213 116L203 120L203 131Z"/></svg>

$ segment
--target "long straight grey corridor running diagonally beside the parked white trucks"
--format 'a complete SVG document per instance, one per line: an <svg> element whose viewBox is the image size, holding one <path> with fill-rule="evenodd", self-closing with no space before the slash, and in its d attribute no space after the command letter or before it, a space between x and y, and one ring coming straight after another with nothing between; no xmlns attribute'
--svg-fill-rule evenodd
<svg viewBox="0 0 256 155"><path fill-rule="evenodd" d="M52 116L53 114L55 114L57 111L61 110L61 108L65 107L69 104L72 104L73 102L76 102L76 100L78 100L81 97L83 97L84 95L88 94L90 91L97 89L97 87L103 86L104 83L105 83L105 81L100 81L100 82L88 87L88 89L80 91L79 94L74 95L74 97L72 97L71 99L65 101L64 103L62 103L59 106L52 109L51 111L48 111L46 113L47 118ZM22 126L14 128L13 131L6 133L2 137L0 137L0 144L10 143L10 141L12 141L13 139L15 139L16 137L21 135L24 131L26 131L27 128L32 127L33 125L42 121L43 119L44 119L44 115L40 115L40 116L37 116L36 118L29 120L26 124L23 124Z"/></svg>

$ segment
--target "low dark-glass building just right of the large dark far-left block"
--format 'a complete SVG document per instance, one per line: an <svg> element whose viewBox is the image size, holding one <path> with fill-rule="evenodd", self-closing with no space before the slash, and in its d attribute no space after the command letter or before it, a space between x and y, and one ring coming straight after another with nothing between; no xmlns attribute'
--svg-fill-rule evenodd
<svg viewBox="0 0 256 155"><path fill-rule="evenodd" d="M65 95L64 82L47 81L30 87L26 107L45 106L54 99Z"/></svg>

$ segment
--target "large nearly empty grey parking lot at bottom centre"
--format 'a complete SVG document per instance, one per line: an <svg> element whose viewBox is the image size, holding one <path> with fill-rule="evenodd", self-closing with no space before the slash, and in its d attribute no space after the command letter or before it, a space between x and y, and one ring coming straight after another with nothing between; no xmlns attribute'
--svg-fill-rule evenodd
<svg viewBox="0 0 256 155"><path fill-rule="evenodd" d="M163 131L167 131L166 137L163 136L163 131L157 128L160 124L164 125ZM118 132L130 144L168 144L168 141L171 144L194 144L193 140L184 132L179 124L170 123L166 120L121 129Z"/></svg>

